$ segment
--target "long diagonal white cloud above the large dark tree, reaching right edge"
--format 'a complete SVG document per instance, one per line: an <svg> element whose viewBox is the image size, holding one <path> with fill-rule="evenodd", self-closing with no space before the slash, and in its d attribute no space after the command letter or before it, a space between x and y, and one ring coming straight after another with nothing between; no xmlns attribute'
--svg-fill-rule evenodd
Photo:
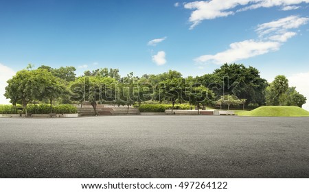
<svg viewBox="0 0 309 192"><path fill-rule="evenodd" d="M258 25L255 30L262 40L243 40L241 42L231 43L226 51L214 55L200 56L194 59L196 62L214 62L223 64L225 62L236 62L237 60L247 59L259 56L271 51L279 50L282 43L289 38L297 35L296 32L290 32L290 29L306 24L308 18L299 16L288 16L277 21L263 23Z"/></svg>

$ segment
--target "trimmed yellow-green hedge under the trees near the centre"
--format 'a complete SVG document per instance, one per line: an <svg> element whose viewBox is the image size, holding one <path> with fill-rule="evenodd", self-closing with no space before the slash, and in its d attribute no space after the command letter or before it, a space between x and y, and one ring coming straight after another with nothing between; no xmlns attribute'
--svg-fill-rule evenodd
<svg viewBox="0 0 309 192"><path fill-rule="evenodd" d="M172 109L172 104L143 104L139 106L140 112L165 112L166 109ZM175 104L174 109L188 110L190 105Z"/></svg>

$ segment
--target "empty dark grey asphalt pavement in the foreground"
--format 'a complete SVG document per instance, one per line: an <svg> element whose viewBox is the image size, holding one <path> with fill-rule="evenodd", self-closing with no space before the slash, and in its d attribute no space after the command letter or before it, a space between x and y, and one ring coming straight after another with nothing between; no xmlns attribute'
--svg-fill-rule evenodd
<svg viewBox="0 0 309 192"><path fill-rule="evenodd" d="M309 178L309 118L0 118L0 178Z"/></svg>

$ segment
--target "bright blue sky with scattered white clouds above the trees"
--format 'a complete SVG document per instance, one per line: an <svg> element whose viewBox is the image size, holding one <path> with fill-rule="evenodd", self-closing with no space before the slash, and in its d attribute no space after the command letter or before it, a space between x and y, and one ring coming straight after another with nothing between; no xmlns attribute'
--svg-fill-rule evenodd
<svg viewBox="0 0 309 192"><path fill-rule="evenodd" d="M306 90L308 10L309 0L0 0L1 78L28 63L195 76L236 62Z"/></svg>

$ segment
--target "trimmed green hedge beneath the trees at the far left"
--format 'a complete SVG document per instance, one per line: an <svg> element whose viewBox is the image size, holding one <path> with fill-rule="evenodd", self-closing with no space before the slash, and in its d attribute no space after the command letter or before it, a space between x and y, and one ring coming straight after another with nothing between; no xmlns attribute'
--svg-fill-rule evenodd
<svg viewBox="0 0 309 192"><path fill-rule="evenodd" d="M0 114L18 114L20 112L25 113L25 109L23 111L18 110L12 105L0 105ZM38 105L27 105L27 112L32 114L49 114L50 106L48 104L38 104ZM72 106L70 104L52 106L52 112L56 114L71 114L77 113L76 106Z"/></svg>

